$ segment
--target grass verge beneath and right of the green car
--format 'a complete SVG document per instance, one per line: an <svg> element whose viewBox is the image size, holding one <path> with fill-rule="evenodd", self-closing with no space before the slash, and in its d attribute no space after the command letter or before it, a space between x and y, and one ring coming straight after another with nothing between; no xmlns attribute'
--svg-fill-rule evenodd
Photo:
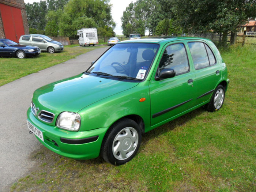
<svg viewBox="0 0 256 192"><path fill-rule="evenodd" d="M42 146L11 191L256 191L256 46L220 52L230 84L218 112L199 108L144 134L122 166Z"/></svg>

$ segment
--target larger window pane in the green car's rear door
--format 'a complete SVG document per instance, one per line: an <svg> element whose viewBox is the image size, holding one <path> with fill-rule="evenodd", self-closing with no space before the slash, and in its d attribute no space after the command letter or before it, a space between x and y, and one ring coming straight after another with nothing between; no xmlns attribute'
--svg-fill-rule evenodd
<svg viewBox="0 0 256 192"><path fill-rule="evenodd" d="M190 42L188 43L188 47L191 52L195 69L201 69L210 65L204 43Z"/></svg>

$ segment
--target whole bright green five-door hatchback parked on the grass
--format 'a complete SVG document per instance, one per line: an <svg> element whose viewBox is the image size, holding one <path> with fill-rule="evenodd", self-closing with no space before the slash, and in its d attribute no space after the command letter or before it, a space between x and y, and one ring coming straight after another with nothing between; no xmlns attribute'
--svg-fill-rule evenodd
<svg viewBox="0 0 256 192"><path fill-rule="evenodd" d="M208 39L118 42L86 72L37 89L27 125L57 154L130 161L142 134L205 105L221 109L229 79Z"/></svg>

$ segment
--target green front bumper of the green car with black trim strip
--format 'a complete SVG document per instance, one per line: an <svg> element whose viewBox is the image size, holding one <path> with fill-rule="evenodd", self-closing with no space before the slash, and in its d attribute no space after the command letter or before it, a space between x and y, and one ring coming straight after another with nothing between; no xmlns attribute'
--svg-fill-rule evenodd
<svg viewBox="0 0 256 192"><path fill-rule="evenodd" d="M29 108L27 120L42 131L44 141L37 138L51 151L73 159L91 159L99 156L107 127L90 131L66 131L39 121Z"/></svg>

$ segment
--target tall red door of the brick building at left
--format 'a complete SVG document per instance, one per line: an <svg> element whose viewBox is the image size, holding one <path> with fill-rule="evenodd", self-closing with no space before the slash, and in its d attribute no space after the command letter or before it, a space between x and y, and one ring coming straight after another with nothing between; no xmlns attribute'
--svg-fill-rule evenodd
<svg viewBox="0 0 256 192"><path fill-rule="evenodd" d="M5 38L18 42L20 35L24 35L21 10L16 7L0 3L0 12L4 26Z"/></svg>

